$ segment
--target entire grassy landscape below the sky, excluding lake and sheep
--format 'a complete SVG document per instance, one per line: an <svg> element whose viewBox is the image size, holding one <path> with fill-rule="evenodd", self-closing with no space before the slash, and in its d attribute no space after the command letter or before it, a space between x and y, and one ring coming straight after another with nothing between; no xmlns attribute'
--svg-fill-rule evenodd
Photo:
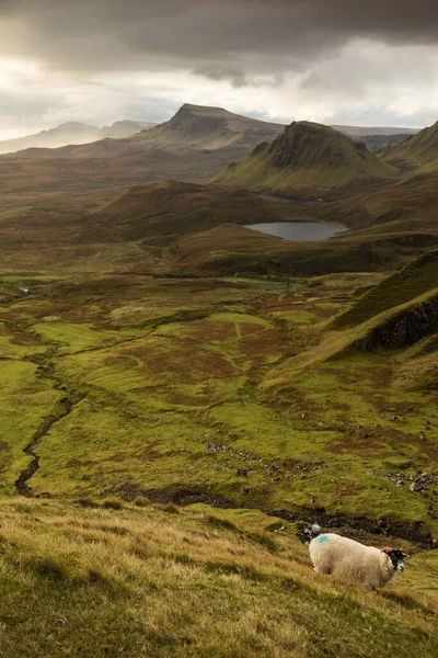
<svg viewBox="0 0 438 658"><path fill-rule="evenodd" d="M436 129L183 105L0 156L0 655L435 656ZM412 561L322 579L307 523Z"/></svg>

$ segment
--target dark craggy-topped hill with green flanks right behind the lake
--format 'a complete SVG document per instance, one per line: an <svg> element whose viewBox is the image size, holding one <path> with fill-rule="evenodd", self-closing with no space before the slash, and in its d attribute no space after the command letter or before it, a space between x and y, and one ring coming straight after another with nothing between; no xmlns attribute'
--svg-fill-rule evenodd
<svg viewBox="0 0 438 658"><path fill-rule="evenodd" d="M396 170L366 146L328 126L293 122L272 144L253 152L214 179L215 183L319 196L358 181L388 179Z"/></svg>

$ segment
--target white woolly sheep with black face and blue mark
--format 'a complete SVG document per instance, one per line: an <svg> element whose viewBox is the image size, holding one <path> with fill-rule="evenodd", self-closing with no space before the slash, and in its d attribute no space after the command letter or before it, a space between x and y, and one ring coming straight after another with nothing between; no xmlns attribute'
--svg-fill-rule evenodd
<svg viewBox="0 0 438 658"><path fill-rule="evenodd" d="M396 571L404 570L406 553L393 548L374 548L334 533L314 537L309 546L316 574L358 580L367 589L384 587Z"/></svg>

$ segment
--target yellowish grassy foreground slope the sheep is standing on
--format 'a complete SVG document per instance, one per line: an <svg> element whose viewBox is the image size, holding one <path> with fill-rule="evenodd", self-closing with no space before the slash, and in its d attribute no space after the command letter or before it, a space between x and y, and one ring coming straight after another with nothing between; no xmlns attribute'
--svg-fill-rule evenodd
<svg viewBox="0 0 438 658"><path fill-rule="evenodd" d="M85 503L94 507L85 507ZM436 552L385 589L316 576L251 510L0 501L8 658L433 658ZM364 633L367 643L364 643ZM25 636L25 642L23 642Z"/></svg>

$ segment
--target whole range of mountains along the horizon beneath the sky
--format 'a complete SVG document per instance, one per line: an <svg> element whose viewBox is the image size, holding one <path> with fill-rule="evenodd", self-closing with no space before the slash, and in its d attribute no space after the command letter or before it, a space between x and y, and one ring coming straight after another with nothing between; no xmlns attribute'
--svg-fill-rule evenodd
<svg viewBox="0 0 438 658"><path fill-rule="evenodd" d="M53 192L69 192L78 200L78 193L93 191L104 202L130 185L163 179L192 183L212 180L223 185L316 198L333 196L337 190L345 193L347 188L361 193L369 183L380 181L387 185L384 197L392 200L388 185L395 184L404 169L430 169L438 162L437 126L417 135L403 133L406 128L338 127L343 132L311 122L284 126L222 107L184 104L170 121L151 129L145 129L142 123L117 122L104 128L65 124L47 131L43 133L46 143L61 138L82 144L30 147L2 155L0 174L9 200L13 194L26 193L34 195L35 201L36 196ZM83 143L85 129L92 138L88 143ZM381 133L371 134L373 129ZM134 134L117 137L132 131ZM371 152L364 141L345 134L347 131L350 135L370 132L361 138L373 139L372 148L380 151ZM104 138L96 139L97 136ZM404 137L401 144L391 145ZM380 209L385 202L380 201L380 191L378 194L371 211L367 209L368 204L361 204L361 214L392 213L392 201L388 209Z"/></svg>

